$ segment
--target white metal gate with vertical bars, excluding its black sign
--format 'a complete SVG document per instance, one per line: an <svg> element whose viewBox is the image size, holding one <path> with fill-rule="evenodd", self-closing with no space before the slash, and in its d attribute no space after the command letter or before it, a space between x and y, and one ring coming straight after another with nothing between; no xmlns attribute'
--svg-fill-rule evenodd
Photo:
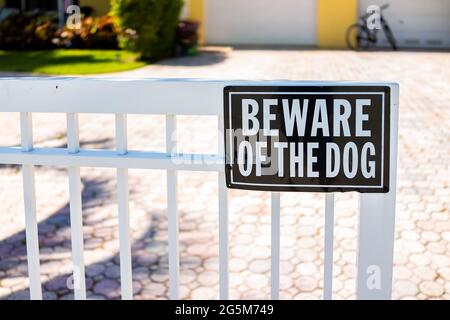
<svg viewBox="0 0 450 320"><path fill-rule="evenodd" d="M219 185L219 278L220 298L228 299L228 200L223 156L215 163L176 161L176 115L213 115L223 126L223 88L229 85L267 86L357 86L380 83L353 82L273 82L202 80L117 80L117 79L0 79L0 112L20 112L21 148L1 147L0 163L22 165L26 218L26 244L30 294L42 299L39 242L36 220L34 166L68 168L70 184L70 223L75 299L86 298L80 167L117 168L119 205L120 275L123 299L132 299L131 244L128 208L128 169L167 171L167 211L169 245L169 295L178 298L179 249L177 210L177 171L218 172ZM386 85L383 83L382 85ZM358 299L390 299L395 221L398 86L391 87L390 192L361 194L357 258ZM103 104L104 101L107 103ZM65 113L68 148L33 148L32 113ZM114 114L116 150L80 149L79 113ZM166 115L167 153L128 151L127 114ZM219 150L223 140L219 139ZM190 155L201 158L206 155ZM210 155L208 156L210 158ZM271 298L279 292L280 194L271 199ZM325 195L324 299L332 298L334 195Z"/></svg>

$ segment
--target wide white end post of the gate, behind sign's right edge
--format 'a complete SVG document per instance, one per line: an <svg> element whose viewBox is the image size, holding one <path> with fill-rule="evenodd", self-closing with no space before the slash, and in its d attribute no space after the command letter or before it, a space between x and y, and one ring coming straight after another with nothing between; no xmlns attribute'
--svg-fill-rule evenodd
<svg viewBox="0 0 450 320"><path fill-rule="evenodd" d="M361 300L387 300L392 293L397 185L398 85L391 86L390 183L384 194L360 195L358 274Z"/></svg>

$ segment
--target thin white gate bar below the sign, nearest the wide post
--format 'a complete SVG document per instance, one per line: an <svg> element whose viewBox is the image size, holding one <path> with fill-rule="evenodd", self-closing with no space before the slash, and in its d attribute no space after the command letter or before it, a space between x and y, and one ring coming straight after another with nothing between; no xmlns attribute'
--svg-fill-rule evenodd
<svg viewBox="0 0 450 320"><path fill-rule="evenodd" d="M325 246L323 263L323 299L333 296L334 194L325 194Z"/></svg>

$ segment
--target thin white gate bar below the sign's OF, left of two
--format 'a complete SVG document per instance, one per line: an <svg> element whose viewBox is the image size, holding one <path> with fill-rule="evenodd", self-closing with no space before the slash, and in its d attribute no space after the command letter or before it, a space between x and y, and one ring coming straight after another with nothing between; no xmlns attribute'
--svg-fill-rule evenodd
<svg viewBox="0 0 450 320"><path fill-rule="evenodd" d="M280 193L272 192L271 199L271 299L278 300L280 295Z"/></svg>

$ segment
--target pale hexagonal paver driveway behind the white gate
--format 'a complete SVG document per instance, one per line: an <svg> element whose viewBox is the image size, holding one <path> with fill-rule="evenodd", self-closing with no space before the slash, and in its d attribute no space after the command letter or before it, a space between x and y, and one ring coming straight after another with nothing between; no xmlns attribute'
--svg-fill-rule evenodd
<svg viewBox="0 0 450 320"><path fill-rule="evenodd" d="M117 76L399 82L393 297L450 299L449 71L450 53L235 50L166 60ZM38 146L65 145L63 116L34 120ZM114 146L112 117L81 116L80 123L83 147ZM0 114L0 145L19 144L18 125L17 115ZM216 119L180 117L179 127L182 151L216 152ZM129 131L130 148L163 150L162 117L130 116ZM119 298L115 171L81 172L88 296ZM211 173L180 173L182 298L218 298L216 179ZM70 299L67 174L38 168L36 180L45 297ZM163 172L130 172L135 298L167 298L165 183ZM21 184L19 168L0 167L1 299L28 296ZM336 199L334 297L354 298L357 195ZM323 209L323 195L282 195L281 298L321 297ZM269 223L267 193L230 192L232 298L269 296Z"/></svg>

